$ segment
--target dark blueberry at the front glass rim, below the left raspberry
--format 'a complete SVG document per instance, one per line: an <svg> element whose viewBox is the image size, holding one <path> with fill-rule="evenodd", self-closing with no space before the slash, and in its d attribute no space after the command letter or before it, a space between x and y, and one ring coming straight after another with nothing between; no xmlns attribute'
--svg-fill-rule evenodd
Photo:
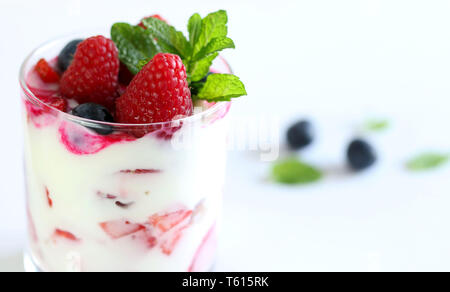
<svg viewBox="0 0 450 292"><path fill-rule="evenodd" d="M83 103L72 110L74 116L100 121L114 123L114 118L107 108L96 103ZM106 125L98 125L97 127L87 127L100 135L109 135L113 132L113 128Z"/></svg>

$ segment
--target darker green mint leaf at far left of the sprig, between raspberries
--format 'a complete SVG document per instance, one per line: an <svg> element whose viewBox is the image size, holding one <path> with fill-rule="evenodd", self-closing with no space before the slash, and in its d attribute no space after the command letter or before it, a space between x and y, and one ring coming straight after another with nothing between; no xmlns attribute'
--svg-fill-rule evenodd
<svg viewBox="0 0 450 292"><path fill-rule="evenodd" d="M111 28L111 39L119 50L119 59L131 73L140 70L138 63L142 59L153 58L159 52L150 35L139 26L128 23L116 23Z"/></svg>

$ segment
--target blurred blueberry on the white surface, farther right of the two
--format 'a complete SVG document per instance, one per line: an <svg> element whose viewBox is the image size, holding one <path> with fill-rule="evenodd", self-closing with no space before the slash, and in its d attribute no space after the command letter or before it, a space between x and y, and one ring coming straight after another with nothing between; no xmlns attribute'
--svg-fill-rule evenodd
<svg viewBox="0 0 450 292"><path fill-rule="evenodd" d="M375 164L377 155L375 149L369 143L356 139L348 147L347 159L353 170L360 171Z"/></svg>

